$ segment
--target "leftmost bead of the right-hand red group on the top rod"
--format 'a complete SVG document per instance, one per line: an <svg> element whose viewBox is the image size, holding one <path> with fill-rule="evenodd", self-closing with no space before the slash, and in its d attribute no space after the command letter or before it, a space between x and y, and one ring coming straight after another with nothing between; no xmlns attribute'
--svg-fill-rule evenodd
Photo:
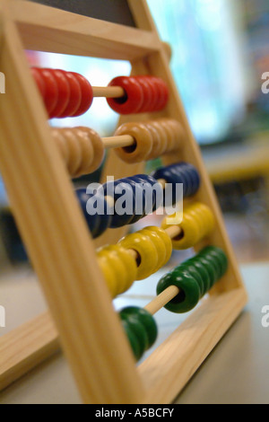
<svg viewBox="0 0 269 422"><path fill-rule="evenodd" d="M133 76L117 76L108 86L121 86L126 95L122 98L107 98L108 105L119 114L135 114L143 106L143 88Z"/></svg>

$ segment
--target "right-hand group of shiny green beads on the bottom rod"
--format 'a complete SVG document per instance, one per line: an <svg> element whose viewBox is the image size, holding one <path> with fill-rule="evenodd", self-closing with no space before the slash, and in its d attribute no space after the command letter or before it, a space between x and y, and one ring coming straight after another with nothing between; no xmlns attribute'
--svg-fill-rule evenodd
<svg viewBox="0 0 269 422"><path fill-rule="evenodd" d="M227 267L228 259L221 248L207 246L194 258L187 259L162 277L157 286L157 295L169 286L178 286L180 293L165 308L177 313L191 311L225 274Z"/></svg>

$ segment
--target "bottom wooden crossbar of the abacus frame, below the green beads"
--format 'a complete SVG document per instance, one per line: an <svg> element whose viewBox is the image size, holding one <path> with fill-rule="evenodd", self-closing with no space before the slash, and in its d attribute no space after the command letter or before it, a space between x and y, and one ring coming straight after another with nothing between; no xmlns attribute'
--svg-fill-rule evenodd
<svg viewBox="0 0 269 422"><path fill-rule="evenodd" d="M240 288L204 300L138 368L145 403L169 403L178 396L213 347L238 318L247 301Z"/></svg>

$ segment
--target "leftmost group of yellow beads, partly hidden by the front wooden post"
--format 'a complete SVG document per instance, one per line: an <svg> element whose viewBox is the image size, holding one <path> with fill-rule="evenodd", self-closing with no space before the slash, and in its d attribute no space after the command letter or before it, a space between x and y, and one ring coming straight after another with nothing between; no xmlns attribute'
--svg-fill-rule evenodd
<svg viewBox="0 0 269 422"><path fill-rule="evenodd" d="M137 276L137 266L134 257L126 249L119 245L106 246L98 251L98 259L112 297L132 286Z"/></svg>

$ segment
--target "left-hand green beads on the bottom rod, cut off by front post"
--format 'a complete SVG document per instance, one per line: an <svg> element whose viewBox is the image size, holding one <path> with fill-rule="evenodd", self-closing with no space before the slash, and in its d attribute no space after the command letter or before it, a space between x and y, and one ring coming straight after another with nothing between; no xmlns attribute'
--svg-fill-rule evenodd
<svg viewBox="0 0 269 422"><path fill-rule="evenodd" d="M119 312L126 336L138 361L143 353L152 347L158 329L150 312L136 306L128 306Z"/></svg>

